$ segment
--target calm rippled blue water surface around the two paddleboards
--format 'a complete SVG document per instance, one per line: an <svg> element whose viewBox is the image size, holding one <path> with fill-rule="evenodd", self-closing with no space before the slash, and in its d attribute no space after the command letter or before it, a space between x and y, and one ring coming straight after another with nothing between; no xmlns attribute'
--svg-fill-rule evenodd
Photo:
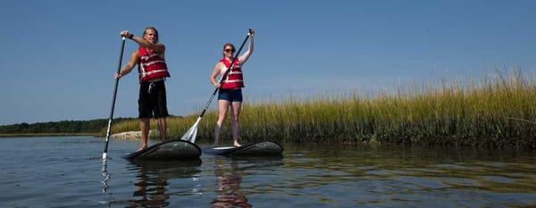
<svg viewBox="0 0 536 208"><path fill-rule="evenodd" d="M0 138L0 207L536 206L536 155L285 145L280 158L131 163L138 141Z"/></svg>

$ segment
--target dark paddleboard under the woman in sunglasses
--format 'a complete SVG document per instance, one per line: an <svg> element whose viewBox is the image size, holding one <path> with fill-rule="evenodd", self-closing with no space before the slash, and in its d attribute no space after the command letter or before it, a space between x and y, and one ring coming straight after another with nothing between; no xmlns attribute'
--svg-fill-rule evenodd
<svg viewBox="0 0 536 208"><path fill-rule="evenodd" d="M224 155L224 156L263 156L281 155L283 146L275 142L259 142L244 146L208 146L203 148L204 154Z"/></svg>

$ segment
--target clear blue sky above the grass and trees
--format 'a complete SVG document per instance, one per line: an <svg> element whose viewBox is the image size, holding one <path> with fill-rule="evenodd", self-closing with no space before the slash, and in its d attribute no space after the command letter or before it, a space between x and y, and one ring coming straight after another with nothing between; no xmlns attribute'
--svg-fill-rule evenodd
<svg viewBox="0 0 536 208"><path fill-rule="evenodd" d="M214 88L222 44L256 29L247 101L536 71L536 1L27 1L0 7L0 125L108 118L121 29L159 29L174 115ZM127 41L126 54L138 46ZM127 61L128 56L124 57ZM136 117L138 75L114 117ZM212 106L214 109L214 104Z"/></svg>

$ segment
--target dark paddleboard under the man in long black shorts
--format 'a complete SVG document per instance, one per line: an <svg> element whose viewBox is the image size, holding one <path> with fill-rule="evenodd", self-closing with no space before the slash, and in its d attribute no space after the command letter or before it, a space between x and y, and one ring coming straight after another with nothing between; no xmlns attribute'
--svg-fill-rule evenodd
<svg viewBox="0 0 536 208"><path fill-rule="evenodd" d="M122 155L122 158L134 160L177 160L177 159L198 159L201 156L201 149L194 143L175 139L168 140L147 147L144 150Z"/></svg>

